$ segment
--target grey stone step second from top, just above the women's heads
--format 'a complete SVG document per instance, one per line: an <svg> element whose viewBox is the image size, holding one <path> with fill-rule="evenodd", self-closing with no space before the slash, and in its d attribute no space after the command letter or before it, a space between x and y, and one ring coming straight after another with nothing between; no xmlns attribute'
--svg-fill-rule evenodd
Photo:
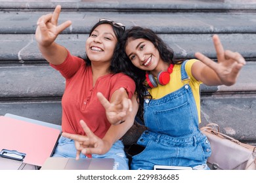
<svg viewBox="0 0 256 183"><path fill-rule="evenodd" d="M0 33L35 33L36 22L40 16L52 13L45 12L1 11ZM256 33L255 12L110 12L95 11L62 11L59 24L72 21L72 27L63 33L89 33L91 26L99 18L109 18L122 22L127 28L133 25L150 27L157 33ZM22 23L22 24L21 24Z"/></svg>

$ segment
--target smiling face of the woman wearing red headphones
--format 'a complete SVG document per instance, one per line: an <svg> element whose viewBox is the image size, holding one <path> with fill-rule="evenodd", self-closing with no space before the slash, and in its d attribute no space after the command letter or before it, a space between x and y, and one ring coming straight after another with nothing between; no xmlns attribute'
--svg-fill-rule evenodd
<svg viewBox="0 0 256 183"><path fill-rule="evenodd" d="M158 49L151 41L146 39L129 38L125 53L136 67L144 71L157 70L161 61Z"/></svg>

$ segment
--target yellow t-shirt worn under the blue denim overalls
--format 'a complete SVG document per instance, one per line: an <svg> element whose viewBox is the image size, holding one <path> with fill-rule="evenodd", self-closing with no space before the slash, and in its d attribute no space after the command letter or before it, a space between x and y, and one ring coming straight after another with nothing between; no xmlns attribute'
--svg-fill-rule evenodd
<svg viewBox="0 0 256 183"><path fill-rule="evenodd" d="M199 61L198 59L190 59L186 62L185 69L186 73L190 77L189 85L192 89L192 93L194 95L194 99L196 101L196 108L198 109L198 119L199 123L201 122L200 117L200 84L202 82L196 80L191 73L191 68L193 63L196 61ZM157 88L152 88L148 92L152 95L152 99L160 99L161 97L164 97L165 95L175 92L176 90L179 90L184 84L186 84L188 81L181 81L181 65L174 65L173 67L173 73L171 73L171 80L168 84L165 86L161 86L158 84Z"/></svg>

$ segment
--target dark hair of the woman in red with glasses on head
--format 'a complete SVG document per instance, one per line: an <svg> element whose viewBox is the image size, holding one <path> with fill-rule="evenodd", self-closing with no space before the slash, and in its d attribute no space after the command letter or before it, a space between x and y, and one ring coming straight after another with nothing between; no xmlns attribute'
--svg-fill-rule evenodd
<svg viewBox="0 0 256 183"><path fill-rule="evenodd" d="M96 27L98 27L98 25L101 25L101 24L110 24L112 26L112 29L116 35L116 39L117 39L117 42L119 42L121 36L123 35L124 33L124 29L122 27L116 27L112 24L112 22L110 21L107 21L107 20L102 20L102 21L99 21L97 22L95 25L93 25L93 27L91 28L91 31L89 33L89 37L91 36L91 34L93 33L93 31L96 29ZM116 48L114 50L114 55L115 53L117 52L117 45L116 45ZM116 58L116 57L115 57ZM88 58L87 55L85 55L85 58L84 58L85 62L87 63L87 65L91 65L91 60ZM126 68L125 67L121 67L120 64L119 64L119 59L114 59L114 56L112 58L112 62L111 62L111 65L110 65L110 72L111 73L129 73L129 71L126 71Z"/></svg>

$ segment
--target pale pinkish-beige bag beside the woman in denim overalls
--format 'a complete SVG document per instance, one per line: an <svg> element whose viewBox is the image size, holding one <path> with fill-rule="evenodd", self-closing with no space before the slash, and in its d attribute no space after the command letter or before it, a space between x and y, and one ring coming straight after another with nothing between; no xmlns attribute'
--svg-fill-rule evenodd
<svg viewBox="0 0 256 183"><path fill-rule="evenodd" d="M210 169L255 170L256 147L244 144L219 132L219 125L208 124L201 128L211 144L211 156L207 159Z"/></svg>

